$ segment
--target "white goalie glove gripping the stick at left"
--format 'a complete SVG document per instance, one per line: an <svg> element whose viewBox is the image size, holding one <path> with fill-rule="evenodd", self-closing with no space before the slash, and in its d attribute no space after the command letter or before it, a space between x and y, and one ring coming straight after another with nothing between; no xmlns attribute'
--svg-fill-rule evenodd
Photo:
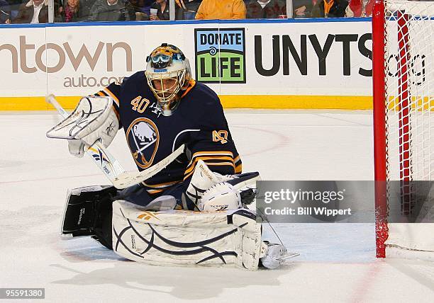
<svg viewBox="0 0 434 303"><path fill-rule="evenodd" d="M65 120L47 132L47 137L68 139L69 153L82 157L84 147L101 141L108 147L119 129L110 97L87 96Z"/></svg>

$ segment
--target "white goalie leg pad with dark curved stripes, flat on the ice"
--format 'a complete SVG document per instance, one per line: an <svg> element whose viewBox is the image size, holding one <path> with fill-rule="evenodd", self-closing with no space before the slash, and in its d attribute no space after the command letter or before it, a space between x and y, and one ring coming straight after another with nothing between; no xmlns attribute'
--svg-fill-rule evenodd
<svg viewBox="0 0 434 303"><path fill-rule="evenodd" d="M236 265L256 270L261 224L250 210L150 212L113 202L113 251L152 265Z"/></svg>

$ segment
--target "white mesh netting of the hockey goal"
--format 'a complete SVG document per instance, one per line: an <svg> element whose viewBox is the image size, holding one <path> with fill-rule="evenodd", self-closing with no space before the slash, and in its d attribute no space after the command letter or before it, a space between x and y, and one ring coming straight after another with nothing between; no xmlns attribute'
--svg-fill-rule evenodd
<svg viewBox="0 0 434 303"><path fill-rule="evenodd" d="M384 6L386 179L404 181L401 197L387 198L388 205L400 201L405 213L413 211L413 181L434 181L434 2ZM425 219L431 214L425 210ZM389 224L386 244L434 251L434 224Z"/></svg>

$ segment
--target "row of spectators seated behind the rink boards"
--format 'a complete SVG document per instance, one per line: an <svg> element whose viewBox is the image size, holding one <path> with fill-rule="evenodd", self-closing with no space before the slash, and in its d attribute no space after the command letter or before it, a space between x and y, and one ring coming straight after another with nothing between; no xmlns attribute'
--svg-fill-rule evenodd
<svg viewBox="0 0 434 303"><path fill-rule="evenodd" d="M365 17L374 0L293 0L293 18ZM175 0L175 19L287 18L286 0ZM54 0L55 22L167 21L169 0ZM0 23L47 23L48 0L0 0Z"/></svg>

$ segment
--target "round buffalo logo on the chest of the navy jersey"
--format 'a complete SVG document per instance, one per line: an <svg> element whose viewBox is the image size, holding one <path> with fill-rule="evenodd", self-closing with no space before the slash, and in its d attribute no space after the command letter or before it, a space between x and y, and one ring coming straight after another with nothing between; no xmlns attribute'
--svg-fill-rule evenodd
<svg viewBox="0 0 434 303"><path fill-rule="evenodd" d="M128 127L126 137L135 163L141 168L149 167L160 142L157 125L148 118L135 119Z"/></svg>

